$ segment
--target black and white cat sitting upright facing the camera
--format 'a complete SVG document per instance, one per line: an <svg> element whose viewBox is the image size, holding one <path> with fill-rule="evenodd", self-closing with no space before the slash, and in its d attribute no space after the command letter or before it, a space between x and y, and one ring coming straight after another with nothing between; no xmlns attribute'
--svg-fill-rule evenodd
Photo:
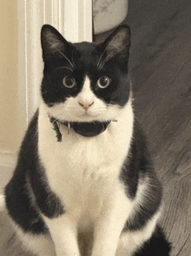
<svg viewBox="0 0 191 256"><path fill-rule="evenodd" d="M5 187L23 245L39 256L169 255L132 110L128 26L102 44L71 44L49 25L41 39L41 104Z"/></svg>

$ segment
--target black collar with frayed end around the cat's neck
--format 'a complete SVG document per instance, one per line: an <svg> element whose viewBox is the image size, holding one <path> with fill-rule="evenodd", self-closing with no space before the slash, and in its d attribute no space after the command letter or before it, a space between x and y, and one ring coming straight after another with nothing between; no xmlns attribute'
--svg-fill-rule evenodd
<svg viewBox="0 0 191 256"><path fill-rule="evenodd" d="M111 121L105 122L61 122L56 120L56 118L49 118L49 121L54 126L54 130L56 131L57 141L62 141L62 134L60 132L58 124L62 124L68 127L68 129L72 128L76 133L82 135L83 137L95 137L105 131L110 124Z"/></svg>

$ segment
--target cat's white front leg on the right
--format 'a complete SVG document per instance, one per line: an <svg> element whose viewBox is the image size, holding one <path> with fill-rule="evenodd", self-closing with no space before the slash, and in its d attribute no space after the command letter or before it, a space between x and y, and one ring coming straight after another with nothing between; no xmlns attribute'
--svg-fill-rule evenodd
<svg viewBox="0 0 191 256"><path fill-rule="evenodd" d="M130 208L130 202L123 192L118 192L112 201L104 202L102 212L95 222L91 256L115 256Z"/></svg>

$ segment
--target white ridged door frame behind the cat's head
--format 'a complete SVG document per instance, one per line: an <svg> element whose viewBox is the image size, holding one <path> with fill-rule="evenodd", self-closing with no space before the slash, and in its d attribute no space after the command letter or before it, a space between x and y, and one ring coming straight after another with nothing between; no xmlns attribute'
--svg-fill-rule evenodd
<svg viewBox="0 0 191 256"><path fill-rule="evenodd" d="M51 24L70 42L92 41L91 0L17 0L21 137L39 101L43 60L40 30Z"/></svg>

